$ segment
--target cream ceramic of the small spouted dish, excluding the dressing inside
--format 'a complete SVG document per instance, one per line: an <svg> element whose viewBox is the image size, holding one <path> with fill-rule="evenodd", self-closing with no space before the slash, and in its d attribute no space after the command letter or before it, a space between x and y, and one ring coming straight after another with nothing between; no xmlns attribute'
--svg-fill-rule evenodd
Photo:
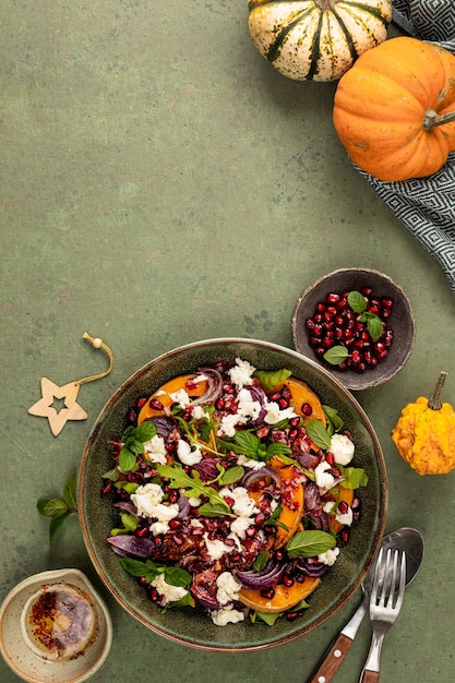
<svg viewBox="0 0 455 683"><path fill-rule="evenodd" d="M23 632L27 602L49 584L69 584L87 600L95 618L93 639L76 656L49 661L33 651ZM10 669L29 683L82 683L93 676L106 660L112 643L112 625L107 608L79 570L55 570L34 574L17 584L0 607L0 651Z"/></svg>

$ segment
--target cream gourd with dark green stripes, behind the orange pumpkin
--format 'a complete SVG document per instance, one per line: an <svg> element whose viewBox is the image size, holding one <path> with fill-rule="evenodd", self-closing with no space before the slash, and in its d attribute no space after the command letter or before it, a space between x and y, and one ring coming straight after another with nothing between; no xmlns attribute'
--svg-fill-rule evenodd
<svg viewBox="0 0 455 683"><path fill-rule="evenodd" d="M249 0L258 50L283 75L335 81L387 37L391 0Z"/></svg>

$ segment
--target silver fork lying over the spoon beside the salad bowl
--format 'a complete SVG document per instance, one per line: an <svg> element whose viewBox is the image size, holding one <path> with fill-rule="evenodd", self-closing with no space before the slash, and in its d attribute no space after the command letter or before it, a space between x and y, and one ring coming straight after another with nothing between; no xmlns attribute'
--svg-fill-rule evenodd
<svg viewBox="0 0 455 683"><path fill-rule="evenodd" d="M384 635L395 623L406 586L406 553L402 550L387 550L384 558L383 548L378 555L376 571L370 598L370 620L373 626L370 651L363 667L360 683L379 681L380 657Z"/></svg>

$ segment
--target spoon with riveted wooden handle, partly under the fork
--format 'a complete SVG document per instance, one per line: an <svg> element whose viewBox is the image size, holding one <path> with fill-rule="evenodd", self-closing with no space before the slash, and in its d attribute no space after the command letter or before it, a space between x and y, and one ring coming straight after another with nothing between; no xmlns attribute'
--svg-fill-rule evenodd
<svg viewBox="0 0 455 683"><path fill-rule="evenodd" d="M409 527L402 527L396 531L391 531L382 539L381 547L384 550L391 548L392 550L398 549L406 553L406 586L410 584L417 574L420 563L423 558L423 538L417 529ZM363 600L358 607L357 611L346 624L337 638L328 648L324 659L322 660L316 673L308 683L330 683L338 668L347 655L357 631L362 623L363 616L367 613L370 602L370 594L373 585L374 570L376 566L376 560L370 566L367 576L362 583Z"/></svg>

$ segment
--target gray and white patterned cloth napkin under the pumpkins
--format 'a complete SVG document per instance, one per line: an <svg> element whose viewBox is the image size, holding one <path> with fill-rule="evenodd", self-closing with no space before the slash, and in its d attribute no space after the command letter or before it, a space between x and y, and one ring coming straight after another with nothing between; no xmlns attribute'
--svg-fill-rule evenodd
<svg viewBox="0 0 455 683"><path fill-rule="evenodd" d="M455 55L455 0L392 0L393 21L405 33ZM432 176L385 182L360 171L443 268L455 291L455 152Z"/></svg>

